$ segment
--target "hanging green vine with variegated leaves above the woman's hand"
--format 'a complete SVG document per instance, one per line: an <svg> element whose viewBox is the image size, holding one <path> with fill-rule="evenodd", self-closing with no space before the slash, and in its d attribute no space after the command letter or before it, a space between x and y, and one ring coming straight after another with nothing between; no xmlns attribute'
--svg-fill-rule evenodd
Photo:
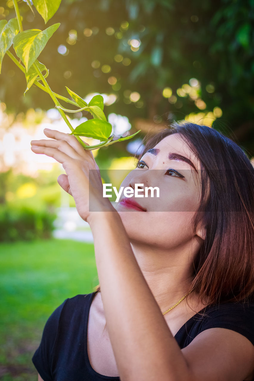
<svg viewBox="0 0 254 381"><path fill-rule="evenodd" d="M30 0L26 0L26 3L33 11ZM34 5L46 24L47 21L55 14L60 3L61 0L58 2L52 2L52 0L36 0ZM46 77L48 76L48 69L44 64L39 62L37 58L44 49L49 38L53 35L56 29L58 29L60 24L53 24L45 30L29 29L24 31L17 0L13 0L13 5L17 18L10 19L8 22L6 20L0 21L0 70L3 56L6 53L16 64L16 66L18 66L19 69L25 74L27 81L26 91L28 91L32 85L36 85L41 90L48 93L55 103L55 107L58 109L64 122L70 128L71 134L76 136L77 140L80 142L82 147L84 147L84 149L93 150L100 147L109 146L117 141L130 139L140 132L137 131L130 136L113 140L114 136L112 134L112 126L109 122L107 122L104 115L103 97L101 95L94 96L89 104L87 104L84 99L68 88L67 91L72 99L54 93L46 80ZM16 59L16 57L10 52L9 49L11 45L13 45L20 61L18 61L18 59ZM24 66L21 64L21 61ZM43 74L43 72L45 72L45 74ZM77 109L70 110L64 108L61 106L58 99L72 104L77 107ZM86 122L81 123L74 129L65 113L75 113L82 110L90 112L93 119L89 119ZM82 141L80 136L99 139L100 144L87 146L84 141Z"/></svg>

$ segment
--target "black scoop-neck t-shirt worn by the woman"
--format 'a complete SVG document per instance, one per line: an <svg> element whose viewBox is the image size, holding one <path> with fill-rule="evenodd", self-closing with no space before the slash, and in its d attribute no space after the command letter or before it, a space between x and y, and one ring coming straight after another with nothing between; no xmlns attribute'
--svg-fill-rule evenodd
<svg viewBox="0 0 254 381"><path fill-rule="evenodd" d="M103 376L96 372L88 359L88 314L94 295L90 293L68 298L48 318L40 346L32 357L43 381L120 380L119 377ZM191 317L174 337L182 349L200 332L214 327L239 332L254 345L254 303L207 307L203 317L199 314Z"/></svg>

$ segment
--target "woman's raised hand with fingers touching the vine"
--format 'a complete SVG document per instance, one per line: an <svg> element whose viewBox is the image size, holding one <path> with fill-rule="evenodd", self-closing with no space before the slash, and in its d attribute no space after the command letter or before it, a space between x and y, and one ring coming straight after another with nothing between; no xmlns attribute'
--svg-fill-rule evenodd
<svg viewBox="0 0 254 381"><path fill-rule="evenodd" d="M73 196L80 217L89 222L93 211L114 210L109 199L103 198L100 170L92 152L85 150L71 134L48 128L44 133L51 139L32 140L31 149L36 154L53 157L63 165L66 174L60 174L57 181Z"/></svg>

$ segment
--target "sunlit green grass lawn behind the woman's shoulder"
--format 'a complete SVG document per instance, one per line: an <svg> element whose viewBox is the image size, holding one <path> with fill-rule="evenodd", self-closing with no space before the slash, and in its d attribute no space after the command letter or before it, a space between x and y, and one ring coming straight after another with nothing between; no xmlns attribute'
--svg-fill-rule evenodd
<svg viewBox="0 0 254 381"><path fill-rule="evenodd" d="M32 355L66 298L98 284L93 244L37 240L0 244L0 380L35 381Z"/></svg>

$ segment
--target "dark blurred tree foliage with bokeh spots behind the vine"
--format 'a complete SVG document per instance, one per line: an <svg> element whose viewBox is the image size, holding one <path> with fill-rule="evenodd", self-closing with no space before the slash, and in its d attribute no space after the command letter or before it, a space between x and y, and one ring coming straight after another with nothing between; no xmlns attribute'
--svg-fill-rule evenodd
<svg viewBox="0 0 254 381"><path fill-rule="evenodd" d="M13 8L2 3L7 18L14 17ZM25 3L20 8L24 29L45 29ZM127 115L131 123L137 117L161 122L200 112L194 99L177 92L196 78L203 111L216 106L223 111L213 126L254 155L253 21L253 0L62 0L48 24L61 25L39 60L50 69L53 91L67 96L66 85L82 97L117 94L105 113ZM140 46L131 46L131 40ZM66 53L63 46L64 54L58 53L60 45ZM48 94L34 86L23 95L24 75L7 56L0 81L0 99L9 111L53 107ZM166 87L176 97L172 103L162 96ZM140 99L131 102L131 92ZM108 152L120 150L119 143Z"/></svg>

